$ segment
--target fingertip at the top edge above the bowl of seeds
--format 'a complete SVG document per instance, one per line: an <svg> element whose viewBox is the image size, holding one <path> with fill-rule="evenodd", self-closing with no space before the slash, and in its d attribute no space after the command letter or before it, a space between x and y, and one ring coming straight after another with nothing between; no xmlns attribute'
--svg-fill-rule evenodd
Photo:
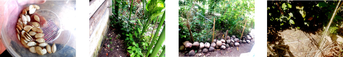
<svg viewBox="0 0 343 57"><path fill-rule="evenodd" d="M45 3L45 0L39 0L39 1L32 1L32 0L30 0L30 1L17 1L18 2L18 5L25 5L25 4L43 4L43 3Z"/></svg>

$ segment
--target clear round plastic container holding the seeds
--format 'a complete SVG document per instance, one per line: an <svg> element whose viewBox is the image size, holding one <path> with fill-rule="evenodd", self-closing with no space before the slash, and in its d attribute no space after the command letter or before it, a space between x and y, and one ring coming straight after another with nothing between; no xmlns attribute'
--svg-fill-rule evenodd
<svg viewBox="0 0 343 57"><path fill-rule="evenodd" d="M31 53L28 48L25 48L23 44L21 44L21 42L18 40L16 35L17 32L15 26L18 18L4 21L4 23L6 23L7 25L2 25L1 37L7 51L13 57L74 57L76 53L75 47L68 46L75 45L74 43L70 43L70 39L74 35L72 35L70 29L65 28L70 26L63 26L63 19L60 19L61 17L63 17L63 14L66 14L63 11L68 10L56 9L66 7L70 7L73 9L76 8L68 6L69 4L75 4L75 1L72 1L70 3L68 2L70 1L46 1L44 4L36 4L40 6L40 9L36 10L36 12L31 15L31 22L36 22L33 18L34 15L39 16L40 28L45 34L43 39L45 39L46 43L48 43L50 46L52 46L52 43L56 44L56 53L46 53L44 55L38 55L37 53ZM23 8L26 8L29 5L32 4L23 5ZM12 15L10 17L18 16L19 15ZM28 22L27 24L30 25L31 22Z"/></svg>

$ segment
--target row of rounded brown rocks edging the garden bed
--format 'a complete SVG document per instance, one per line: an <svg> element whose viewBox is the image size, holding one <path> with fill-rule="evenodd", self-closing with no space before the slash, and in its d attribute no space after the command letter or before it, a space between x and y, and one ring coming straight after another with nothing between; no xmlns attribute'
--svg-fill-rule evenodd
<svg viewBox="0 0 343 57"><path fill-rule="evenodd" d="M224 39L220 40L213 40L213 42L210 44L208 42L206 43L199 43L194 42L190 43L189 41L183 42L184 45L181 45L179 50L184 51L186 50L186 53L188 53L188 56L194 56L196 53L194 51L198 49L198 53L207 53L215 51L216 49L226 49L234 46L240 46L240 44L243 43L251 43L251 41L254 40L253 33L249 33L249 35L243 36L243 38L236 38L235 35L227 36L226 41ZM187 51L188 49L188 51ZM190 50L190 51L189 51Z"/></svg>

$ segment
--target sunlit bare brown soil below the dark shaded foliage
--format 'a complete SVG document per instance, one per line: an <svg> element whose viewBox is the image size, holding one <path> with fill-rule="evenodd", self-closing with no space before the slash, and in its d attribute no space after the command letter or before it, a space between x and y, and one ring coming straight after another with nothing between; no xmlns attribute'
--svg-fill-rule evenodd
<svg viewBox="0 0 343 57"><path fill-rule="evenodd" d="M322 37L322 31L303 31L296 29L275 30L268 28L267 56L268 57L316 57L320 52L318 43ZM325 41L322 45L327 47L318 53L321 57L342 56L340 51L342 44ZM270 48L269 48L270 47ZM332 48L331 48L332 47Z"/></svg>

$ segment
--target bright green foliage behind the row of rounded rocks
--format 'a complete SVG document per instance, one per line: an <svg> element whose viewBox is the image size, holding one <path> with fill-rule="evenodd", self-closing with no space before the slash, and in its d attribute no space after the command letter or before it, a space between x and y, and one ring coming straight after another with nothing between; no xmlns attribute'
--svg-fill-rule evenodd
<svg viewBox="0 0 343 57"><path fill-rule="evenodd" d="M179 42L190 40L187 22L194 41L212 40L213 19L216 19L215 32L225 34L225 31L229 30L228 35L240 37L247 22L243 33L247 34L255 25L254 3L253 0L179 0ZM216 36L215 38L220 39Z"/></svg>

